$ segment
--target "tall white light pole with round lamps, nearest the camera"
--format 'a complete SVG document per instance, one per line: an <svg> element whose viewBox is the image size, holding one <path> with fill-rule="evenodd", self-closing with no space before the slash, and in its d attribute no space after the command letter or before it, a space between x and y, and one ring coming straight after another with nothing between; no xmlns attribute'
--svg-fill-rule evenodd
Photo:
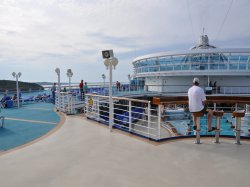
<svg viewBox="0 0 250 187"><path fill-rule="evenodd" d="M109 56L108 58L105 58L104 65L109 69L109 129L112 131L113 127L113 98L112 98L112 67L116 67L118 64L118 59Z"/></svg>

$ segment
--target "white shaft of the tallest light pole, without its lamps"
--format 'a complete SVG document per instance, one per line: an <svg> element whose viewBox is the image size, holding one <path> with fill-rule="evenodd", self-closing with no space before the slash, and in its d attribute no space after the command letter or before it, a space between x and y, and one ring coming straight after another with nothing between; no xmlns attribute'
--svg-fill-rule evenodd
<svg viewBox="0 0 250 187"><path fill-rule="evenodd" d="M113 98L112 98L112 64L109 60L109 129L113 127Z"/></svg>

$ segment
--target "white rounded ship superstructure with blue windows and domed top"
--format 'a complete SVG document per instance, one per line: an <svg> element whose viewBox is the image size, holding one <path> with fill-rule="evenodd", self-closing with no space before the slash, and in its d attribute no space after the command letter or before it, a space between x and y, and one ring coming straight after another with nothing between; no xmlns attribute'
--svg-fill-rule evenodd
<svg viewBox="0 0 250 187"><path fill-rule="evenodd" d="M133 60L134 77L145 90L186 92L194 77L216 93L250 93L250 48L216 48L207 35L189 50L149 54Z"/></svg>

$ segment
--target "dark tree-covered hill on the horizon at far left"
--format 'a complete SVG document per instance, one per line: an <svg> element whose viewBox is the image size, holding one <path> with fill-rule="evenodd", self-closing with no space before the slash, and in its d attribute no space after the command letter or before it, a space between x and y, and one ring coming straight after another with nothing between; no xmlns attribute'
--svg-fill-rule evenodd
<svg viewBox="0 0 250 187"><path fill-rule="evenodd" d="M36 83L18 81L18 85L21 91L44 90L44 88L41 85ZM4 92L5 90L8 91L16 90L16 81L0 80L0 92Z"/></svg>

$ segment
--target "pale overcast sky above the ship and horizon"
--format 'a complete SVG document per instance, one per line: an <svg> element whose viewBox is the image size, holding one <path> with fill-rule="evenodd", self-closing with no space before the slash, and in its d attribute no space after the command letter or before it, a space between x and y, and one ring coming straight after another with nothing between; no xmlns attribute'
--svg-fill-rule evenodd
<svg viewBox="0 0 250 187"><path fill-rule="evenodd" d="M0 79L102 81L101 51L113 49L114 81L127 81L132 60L185 50L205 28L217 47L250 48L250 0L0 0Z"/></svg>

